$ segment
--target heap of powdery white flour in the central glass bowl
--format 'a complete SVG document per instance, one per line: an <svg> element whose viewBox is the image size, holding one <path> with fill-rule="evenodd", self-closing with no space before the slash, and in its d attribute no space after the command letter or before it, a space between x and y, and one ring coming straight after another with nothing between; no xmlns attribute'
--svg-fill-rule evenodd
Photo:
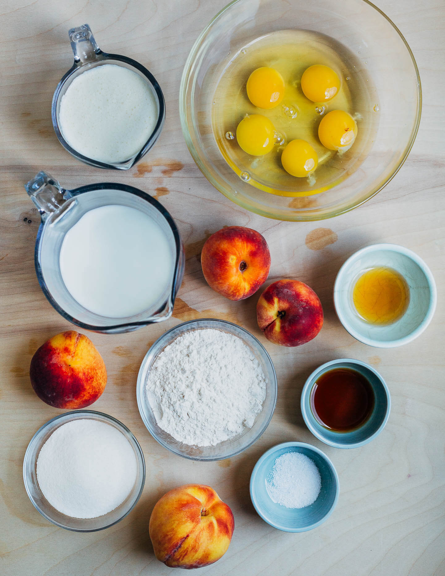
<svg viewBox="0 0 445 576"><path fill-rule="evenodd" d="M211 328L179 336L155 359L146 394L158 426L191 446L214 446L252 427L266 382L252 350Z"/></svg>

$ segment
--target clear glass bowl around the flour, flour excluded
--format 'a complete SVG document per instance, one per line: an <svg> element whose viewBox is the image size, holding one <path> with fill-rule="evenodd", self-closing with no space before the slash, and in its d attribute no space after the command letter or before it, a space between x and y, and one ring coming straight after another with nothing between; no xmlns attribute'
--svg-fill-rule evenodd
<svg viewBox="0 0 445 576"><path fill-rule="evenodd" d="M266 394L263 407L261 412L256 416L253 425L251 427L245 427L240 434L220 442L215 446L193 446L184 444L173 438L173 436L168 434L165 430L162 430L157 423L146 392L147 377L149 376L151 367L158 355L179 336L192 330L204 328L220 330L226 332L226 334L231 334L241 339L242 342L253 352L260 364L266 384ZM267 428L271 421L273 411L275 410L277 396L276 374L271 357L265 350L263 344L258 342L258 340L244 328L232 324L231 322L226 322L225 320L191 320L179 324L168 332L165 332L165 334L163 334L161 338L151 346L140 365L138 382L136 384L136 396L143 423L159 444L170 450L170 452L184 458L189 458L190 460L223 460L224 458L235 456L236 454L243 452L246 448L249 448L249 446L260 438L261 434L263 434Z"/></svg>

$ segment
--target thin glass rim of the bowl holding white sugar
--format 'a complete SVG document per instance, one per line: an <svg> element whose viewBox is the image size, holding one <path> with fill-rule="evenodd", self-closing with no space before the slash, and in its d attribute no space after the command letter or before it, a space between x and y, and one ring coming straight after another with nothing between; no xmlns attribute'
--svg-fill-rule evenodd
<svg viewBox="0 0 445 576"><path fill-rule="evenodd" d="M69 418L70 416L76 415L73 418L73 420L71 420L71 421L74 421L77 419L81 419L81 415L83 415L83 414L100 416L101 418L104 418L105 420L111 420L111 422L113 422L115 425L117 425L116 427L118 429L120 429L121 432L124 431L125 433L127 433L128 436L131 438L131 440L134 442L134 444L136 446L136 452L138 453L138 455L140 457L140 463L142 464L142 475L141 475L141 480L140 480L139 492L138 492L138 495L137 495L133 505L125 512L125 514L123 514L123 516L121 516L120 518L118 518L114 522L110 522L109 524L106 524L105 526L100 526L99 528L73 528L72 526L65 526L64 524L60 524L60 522L58 522L58 521L54 520L53 518L51 518L50 516L48 516L48 514L45 514L45 512L40 509L39 505L37 505L37 502L35 502L34 498L32 497L31 491L29 490L28 478L26 476L25 464L31 458L31 451L34 448L33 445L37 441L37 437L39 436L39 434L43 430L48 428L48 426L50 426L53 422L55 422L55 420L60 420L62 418ZM91 418L91 419L96 420L96 418ZM101 420L96 420L96 421L100 422ZM42 446L43 446L43 444L40 446L40 449ZM40 453L40 450L37 453L36 462L37 462L37 458L39 457L39 453ZM25 484L26 494L28 494L28 498L31 501L32 505L35 507L35 509L37 511L40 512L40 514L44 518L49 520L52 524L59 526L59 528L64 528L65 530L71 530L71 532L99 532L100 530L105 530L106 528L110 528L111 526L114 526L115 524L117 524L117 522L120 522L121 520L123 520L125 518L125 516L128 516L128 514L130 514L130 512L134 509L134 507L138 503L139 498L142 495L142 491L144 489L146 468L145 468L144 454L142 452L142 448L140 447L138 440L136 439L136 437L132 433L132 431L130 429L128 429L127 426L125 426L122 422L120 422L120 420L117 420L117 418L114 418L113 416L110 416L109 414L105 414L105 412L99 412L97 410L70 410L69 412L63 412L63 414L58 414L57 416L54 416L54 418L51 418L50 420L45 422L42 426L40 426L40 428L36 431L36 433L33 434L33 437L31 438L28 446L26 447L25 456L23 457L22 473L23 473L23 483ZM40 488L39 488L39 490L40 490ZM46 500L46 498L45 498L45 500ZM50 504L50 503L48 502L48 504ZM51 506L51 504L50 504L50 506ZM66 514L64 516L66 516ZM107 516L107 514L104 514L103 516ZM67 518L70 518L70 516L67 516ZM98 516L97 518L101 518L101 516ZM91 520L94 520L94 519L95 518L92 518ZM77 520L89 520L89 518L77 518Z"/></svg>

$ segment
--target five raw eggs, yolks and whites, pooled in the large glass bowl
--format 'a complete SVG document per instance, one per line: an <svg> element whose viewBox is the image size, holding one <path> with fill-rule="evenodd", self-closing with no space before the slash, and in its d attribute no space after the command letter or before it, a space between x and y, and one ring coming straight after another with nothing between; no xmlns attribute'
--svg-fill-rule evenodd
<svg viewBox="0 0 445 576"><path fill-rule="evenodd" d="M375 101L366 67L347 48L319 33L282 30L221 63L212 131L245 182L276 195L312 195L366 158L378 127Z"/></svg>

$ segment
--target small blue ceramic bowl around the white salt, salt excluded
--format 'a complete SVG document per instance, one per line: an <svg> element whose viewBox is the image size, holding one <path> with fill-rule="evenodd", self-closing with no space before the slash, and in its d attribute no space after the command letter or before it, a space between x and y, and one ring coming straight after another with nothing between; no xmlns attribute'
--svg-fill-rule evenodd
<svg viewBox="0 0 445 576"><path fill-rule="evenodd" d="M273 502L267 493L266 482L272 473L273 464L287 452L305 454L313 460L320 472L320 494L310 506L286 508ZM337 472L328 456L304 442L284 442L273 446L261 456L250 476L250 498L255 510L265 522L284 532L306 532L320 526L336 507L339 492Z"/></svg>

